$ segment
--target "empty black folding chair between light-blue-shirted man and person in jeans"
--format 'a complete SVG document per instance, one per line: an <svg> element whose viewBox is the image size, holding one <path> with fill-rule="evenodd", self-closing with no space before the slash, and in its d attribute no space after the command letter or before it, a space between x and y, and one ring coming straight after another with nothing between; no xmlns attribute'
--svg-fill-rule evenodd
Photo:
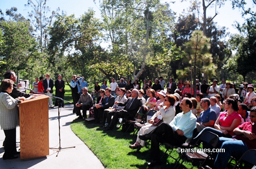
<svg viewBox="0 0 256 169"><path fill-rule="evenodd" d="M207 131L199 137L195 145L200 145L201 142L204 142L204 143L207 143L211 147L211 149L214 149L216 148L218 141L219 141L219 136L217 134ZM201 168L206 160L212 160L212 157L211 157L212 153L211 152L207 152L207 153L204 153L203 151L184 152L182 155L185 156L185 158L181 161L180 165L177 168L179 168L182 165L182 163L186 158L188 160L191 160L192 162L203 161L201 165L198 167L198 168ZM194 164L192 168L193 167L194 167Z"/></svg>

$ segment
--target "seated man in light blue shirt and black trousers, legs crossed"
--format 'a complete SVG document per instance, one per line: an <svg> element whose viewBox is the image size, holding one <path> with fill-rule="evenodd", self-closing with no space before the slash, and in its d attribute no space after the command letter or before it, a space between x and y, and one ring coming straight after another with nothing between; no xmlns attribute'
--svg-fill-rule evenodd
<svg viewBox="0 0 256 169"><path fill-rule="evenodd" d="M148 166L160 164L159 143L182 145L186 142L187 138L192 137L197 122L196 116L190 111L192 101L189 98L184 98L181 101L180 107L183 112L176 115L172 122L169 124L163 122L152 132L139 135L139 138L142 140L151 139L152 161L147 164Z"/></svg>

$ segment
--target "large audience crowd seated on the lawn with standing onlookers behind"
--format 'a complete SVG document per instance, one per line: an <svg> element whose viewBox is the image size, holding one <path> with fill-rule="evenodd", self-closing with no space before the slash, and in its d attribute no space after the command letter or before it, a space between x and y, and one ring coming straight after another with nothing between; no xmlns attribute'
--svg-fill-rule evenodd
<svg viewBox="0 0 256 169"><path fill-rule="evenodd" d="M207 131L216 133L220 137L219 148L227 150L223 154L215 154L212 168L225 168L231 156L239 158L246 150L256 149L256 97L253 85L243 83L240 90L235 90L225 79L220 86L218 80L208 85L206 80L201 84L197 79L194 98L189 81L179 80L176 83L169 78L166 85L162 77L159 79L155 79L154 85L151 80L145 79L139 87L137 80L132 84L131 80L126 83L123 78L120 83L112 79L110 88L103 83L106 88L100 91L106 95L98 99L105 101L92 106L90 116L95 117L95 123L105 131L113 130L119 119L136 119L134 125L139 123L142 127L136 142L129 147L139 151L145 146L145 140L151 139L152 161L148 166L160 164L160 143L196 143ZM148 114L147 120L144 119L142 123L151 110L155 110L155 114ZM198 134L192 138L195 129ZM233 149L235 146L241 149Z"/></svg>

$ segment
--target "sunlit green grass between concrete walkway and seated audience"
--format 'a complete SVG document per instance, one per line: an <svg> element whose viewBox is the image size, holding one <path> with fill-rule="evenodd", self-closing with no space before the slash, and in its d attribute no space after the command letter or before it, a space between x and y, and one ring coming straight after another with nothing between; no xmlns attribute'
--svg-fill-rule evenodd
<svg viewBox="0 0 256 169"><path fill-rule="evenodd" d="M148 168L146 163L151 161L150 144L139 152L130 149L129 145L136 141L136 137L132 137L132 133L124 133L121 129L103 131L98 124L78 119L71 123L71 129L94 152L106 168ZM166 149L164 146L160 146L160 149L162 150L160 156L162 156ZM176 150L172 155L178 157ZM175 160L167 155L161 161L162 165L157 165L155 168L174 168L175 166ZM190 162L185 161L183 165L191 168Z"/></svg>

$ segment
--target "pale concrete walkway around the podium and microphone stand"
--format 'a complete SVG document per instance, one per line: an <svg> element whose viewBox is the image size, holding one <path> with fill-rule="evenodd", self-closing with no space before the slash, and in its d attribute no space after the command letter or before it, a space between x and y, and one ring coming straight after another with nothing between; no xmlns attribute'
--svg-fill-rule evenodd
<svg viewBox="0 0 256 169"><path fill-rule="evenodd" d="M61 151L50 149L50 155L45 158L20 160L3 160L3 141L5 134L0 130L0 168L104 168L93 152L72 132L70 123L77 118L72 113L73 105L65 105L60 109L60 144ZM59 147L58 108L49 109L49 140L50 148ZM19 127L17 127L17 142L19 142ZM56 157L56 155L58 156Z"/></svg>

